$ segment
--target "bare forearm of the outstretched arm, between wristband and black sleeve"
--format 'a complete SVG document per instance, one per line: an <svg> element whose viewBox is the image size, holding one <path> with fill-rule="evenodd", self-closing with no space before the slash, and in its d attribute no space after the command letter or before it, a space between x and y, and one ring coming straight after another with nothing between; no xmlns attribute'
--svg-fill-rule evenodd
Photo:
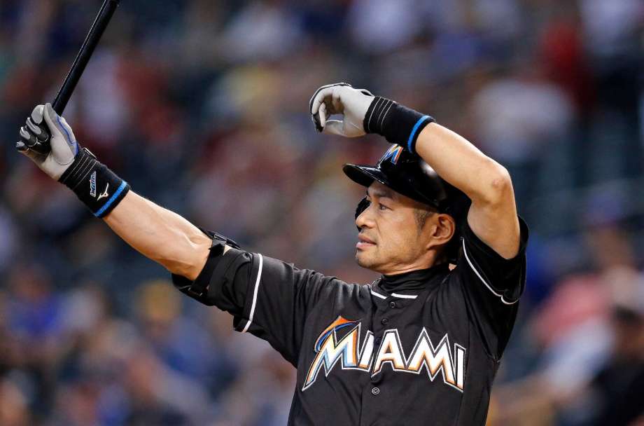
<svg viewBox="0 0 644 426"><path fill-rule="evenodd" d="M211 239L174 212L130 191L104 218L127 244L170 272L195 280Z"/></svg>

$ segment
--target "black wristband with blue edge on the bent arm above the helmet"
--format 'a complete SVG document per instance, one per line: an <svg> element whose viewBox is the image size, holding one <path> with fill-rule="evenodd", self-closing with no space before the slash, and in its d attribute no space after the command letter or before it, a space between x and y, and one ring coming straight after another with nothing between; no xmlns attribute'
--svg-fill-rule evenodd
<svg viewBox="0 0 644 426"><path fill-rule="evenodd" d="M399 144L416 153L416 139L421 130L434 118L403 107L391 99L377 96L371 102L363 126L367 133L384 136L392 144Z"/></svg>

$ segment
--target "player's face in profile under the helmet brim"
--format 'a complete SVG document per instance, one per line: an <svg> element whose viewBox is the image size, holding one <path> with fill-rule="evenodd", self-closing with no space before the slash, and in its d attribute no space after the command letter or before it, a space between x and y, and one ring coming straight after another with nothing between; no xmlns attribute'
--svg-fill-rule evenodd
<svg viewBox="0 0 644 426"><path fill-rule="evenodd" d="M367 188L367 200L369 207L356 218L358 265L383 274L431 266L434 254L428 248L436 219L444 215L428 214L422 224L419 213L427 213L427 207L376 181Z"/></svg>

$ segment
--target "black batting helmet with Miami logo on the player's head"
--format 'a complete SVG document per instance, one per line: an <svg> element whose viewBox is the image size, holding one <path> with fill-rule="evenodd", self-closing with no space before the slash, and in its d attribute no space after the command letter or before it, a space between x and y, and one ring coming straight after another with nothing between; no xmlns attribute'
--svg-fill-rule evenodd
<svg viewBox="0 0 644 426"><path fill-rule="evenodd" d="M342 170L357 184L368 187L373 181L378 181L397 193L453 217L456 231L447 243L444 253L450 263L456 263L460 249L461 224L464 223L470 208L470 199L463 191L448 184L422 158L409 153L400 145L392 145L380 158L376 167L345 164ZM356 209L356 218L368 205L366 198L363 198Z"/></svg>

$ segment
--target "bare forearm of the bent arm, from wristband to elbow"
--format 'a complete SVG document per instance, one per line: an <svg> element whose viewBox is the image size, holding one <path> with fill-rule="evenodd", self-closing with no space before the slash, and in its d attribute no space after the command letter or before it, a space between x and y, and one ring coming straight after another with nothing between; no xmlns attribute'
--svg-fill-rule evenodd
<svg viewBox="0 0 644 426"><path fill-rule="evenodd" d="M507 170L442 125L430 123L422 130L416 140L416 153L472 202L494 204L511 196Z"/></svg>

